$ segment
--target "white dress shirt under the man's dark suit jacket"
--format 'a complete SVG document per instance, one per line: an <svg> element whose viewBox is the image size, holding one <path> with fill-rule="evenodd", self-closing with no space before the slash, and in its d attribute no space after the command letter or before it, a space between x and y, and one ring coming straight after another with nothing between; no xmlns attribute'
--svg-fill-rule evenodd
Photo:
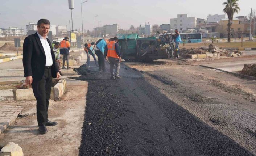
<svg viewBox="0 0 256 156"><path fill-rule="evenodd" d="M38 32L37 32L37 34L38 34ZM51 65L53 65L53 58L51 57L51 47L46 39L46 38L48 38L48 36L46 36L46 38L42 37L40 34L38 34L38 36L40 38L40 41L41 41L42 46L45 51L45 56L46 56L45 66L51 66Z"/></svg>

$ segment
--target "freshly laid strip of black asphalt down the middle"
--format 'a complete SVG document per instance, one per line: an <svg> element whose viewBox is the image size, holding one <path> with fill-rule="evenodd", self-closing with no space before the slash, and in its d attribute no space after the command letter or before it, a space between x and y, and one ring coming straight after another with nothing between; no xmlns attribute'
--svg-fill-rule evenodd
<svg viewBox="0 0 256 156"><path fill-rule="evenodd" d="M93 63L92 63L93 64ZM252 155L122 64L123 79L92 67L80 155Z"/></svg>

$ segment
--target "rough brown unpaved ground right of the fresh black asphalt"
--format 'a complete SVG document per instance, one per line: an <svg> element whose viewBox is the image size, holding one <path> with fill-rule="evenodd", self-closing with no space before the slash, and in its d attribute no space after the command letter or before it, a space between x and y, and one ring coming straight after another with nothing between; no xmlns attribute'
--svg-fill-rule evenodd
<svg viewBox="0 0 256 156"><path fill-rule="evenodd" d="M256 81L199 66L255 58L125 64L143 73L166 97L256 155Z"/></svg>

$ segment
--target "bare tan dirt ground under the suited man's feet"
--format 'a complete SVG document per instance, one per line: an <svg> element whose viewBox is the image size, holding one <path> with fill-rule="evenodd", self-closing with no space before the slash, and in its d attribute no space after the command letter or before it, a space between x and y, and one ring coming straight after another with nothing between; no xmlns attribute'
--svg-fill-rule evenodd
<svg viewBox="0 0 256 156"><path fill-rule="evenodd" d="M65 74L78 76L74 73ZM17 143L22 147L24 156L78 155L88 83L74 79L66 81L66 93L60 101L50 101L49 105L49 120L57 121L57 126L47 127L48 133L45 135L38 134L36 101L10 101L25 108L20 117L0 135L1 145L8 142Z"/></svg>

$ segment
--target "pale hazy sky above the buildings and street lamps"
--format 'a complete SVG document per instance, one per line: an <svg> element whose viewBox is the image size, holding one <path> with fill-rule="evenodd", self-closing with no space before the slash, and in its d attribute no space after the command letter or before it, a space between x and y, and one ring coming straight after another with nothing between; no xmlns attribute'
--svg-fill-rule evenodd
<svg viewBox="0 0 256 156"><path fill-rule="evenodd" d="M26 28L28 22L47 18L51 24L67 25L71 13L68 0L0 0L0 28L18 26ZM82 28L81 3L74 0L73 27ZM150 24L170 23L177 14L188 13L189 17L207 18L208 14L224 14L222 3L225 0L88 0L82 4L84 29L93 29L99 24L118 24L120 29L129 29ZM250 8L256 9L256 0L240 0L241 11L234 16L247 16ZM98 22L101 21L101 22Z"/></svg>

